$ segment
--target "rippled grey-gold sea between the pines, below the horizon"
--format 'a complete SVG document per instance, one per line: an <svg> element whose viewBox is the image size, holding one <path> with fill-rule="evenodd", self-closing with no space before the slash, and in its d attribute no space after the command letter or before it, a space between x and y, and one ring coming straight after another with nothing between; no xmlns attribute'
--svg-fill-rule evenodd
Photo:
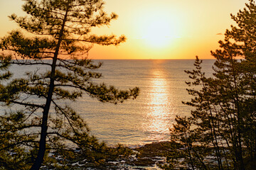
<svg viewBox="0 0 256 170"><path fill-rule="evenodd" d="M92 135L107 145L138 147L151 142L170 139L169 128L177 115L188 116L191 106L188 95L190 81L184 70L193 70L194 60L93 60L102 62L97 72L102 78L97 83L113 85L118 89L139 87L139 96L124 103L102 103L96 98L83 96L70 105L86 121ZM215 60L203 60L206 76L213 73ZM14 78L38 67L11 67Z"/></svg>

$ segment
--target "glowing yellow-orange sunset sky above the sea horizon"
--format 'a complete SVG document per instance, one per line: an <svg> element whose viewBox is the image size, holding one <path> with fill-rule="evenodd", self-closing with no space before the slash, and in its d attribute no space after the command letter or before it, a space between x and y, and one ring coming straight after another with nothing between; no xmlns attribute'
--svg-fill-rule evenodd
<svg viewBox="0 0 256 170"><path fill-rule="evenodd" d="M117 13L110 26L93 29L97 35L125 35L118 46L94 45L91 59L212 59L226 29L235 22L230 13L247 0L105 0L105 11ZM22 0L0 0L0 37L18 26L7 16L24 16Z"/></svg>

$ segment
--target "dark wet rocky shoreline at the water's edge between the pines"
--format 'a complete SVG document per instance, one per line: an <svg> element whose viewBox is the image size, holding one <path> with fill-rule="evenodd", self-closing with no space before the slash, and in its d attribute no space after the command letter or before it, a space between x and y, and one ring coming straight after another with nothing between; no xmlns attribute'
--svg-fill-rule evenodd
<svg viewBox="0 0 256 170"><path fill-rule="evenodd" d="M75 159L70 160L70 165L73 169L82 170L82 169L90 169L90 170L132 170L132 169L147 169L147 170L158 170L159 165L163 165L166 163L166 153L170 149L170 142L153 142L151 144L146 144L142 147L137 147L134 149L126 149L129 150L129 157L120 157L119 159L109 159L105 160L104 164L93 164L87 162L87 160L83 161L75 161ZM53 159L62 161L62 157L57 154L52 154ZM61 164L59 164L61 166ZM54 166L44 166L41 169L50 170L55 169Z"/></svg>

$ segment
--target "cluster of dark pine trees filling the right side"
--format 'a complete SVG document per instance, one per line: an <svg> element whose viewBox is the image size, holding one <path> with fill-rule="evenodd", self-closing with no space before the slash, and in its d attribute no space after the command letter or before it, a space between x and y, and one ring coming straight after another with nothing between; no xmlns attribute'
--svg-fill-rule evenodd
<svg viewBox="0 0 256 170"><path fill-rule="evenodd" d="M215 57L213 76L201 60L186 71L194 109L178 116L171 129L172 152L166 169L255 169L256 162L256 4L250 0L225 32ZM242 58L242 60L240 60Z"/></svg>

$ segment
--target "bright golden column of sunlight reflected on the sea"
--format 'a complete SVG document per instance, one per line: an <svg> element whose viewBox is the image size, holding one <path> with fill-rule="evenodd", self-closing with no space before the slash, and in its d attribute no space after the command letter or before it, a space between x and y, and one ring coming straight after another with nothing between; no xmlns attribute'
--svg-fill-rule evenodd
<svg viewBox="0 0 256 170"><path fill-rule="evenodd" d="M171 94L163 69L152 69L150 82L147 122L145 123L148 141L166 140L169 135L170 117L173 116Z"/></svg>

